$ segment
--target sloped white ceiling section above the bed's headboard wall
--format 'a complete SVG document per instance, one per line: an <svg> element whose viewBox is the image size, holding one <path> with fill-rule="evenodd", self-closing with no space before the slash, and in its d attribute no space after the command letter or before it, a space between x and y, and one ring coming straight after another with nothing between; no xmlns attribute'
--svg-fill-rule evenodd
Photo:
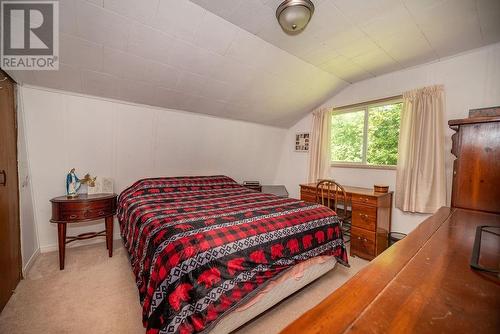
<svg viewBox="0 0 500 334"><path fill-rule="evenodd" d="M187 0L60 1L59 71L21 83L287 127L345 82Z"/></svg>

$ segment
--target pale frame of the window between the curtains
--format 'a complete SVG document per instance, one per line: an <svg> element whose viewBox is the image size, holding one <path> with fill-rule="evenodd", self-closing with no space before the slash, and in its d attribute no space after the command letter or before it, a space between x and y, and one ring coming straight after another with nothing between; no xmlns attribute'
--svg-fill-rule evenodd
<svg viewBox="0 0 500 334"><path fill-rule="evenodd" d="M338 108L332 111L331 117L339 114L347 114L355 111L364 111L364 128L363 128L363 146L361 152L361 162L346 162L346 161L330 161L330 166L332 167L343 167L343 168L366 168L366 169L396 169L396 165L370 165L366 162L366 152L368 150L368 109L373 107L385 106L388 104L396 104L403 103L403 99L401 97L388 99L385 101L379 102L366 102L353 107L347 108ZM401 110L403 113L403 110ZM331 138L330 138L331 140Z"/></svg>

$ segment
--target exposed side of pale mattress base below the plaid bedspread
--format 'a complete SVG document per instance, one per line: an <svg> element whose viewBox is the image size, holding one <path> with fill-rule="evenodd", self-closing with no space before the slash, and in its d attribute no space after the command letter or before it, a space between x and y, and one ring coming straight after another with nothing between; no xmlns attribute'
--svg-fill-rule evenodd
<svg viewBox="0 0 500 334"><path fill-rule="evenodd" d="M226 334L234 331L286 297L320 278L332 270L336 263L337 260L333 256L315 257L304 261L301 265L297 265L297 267L302 268L290 270L280 277L276 284L272 284L268 290L261 292L245 305L222 318L210 333Z"/></svg>

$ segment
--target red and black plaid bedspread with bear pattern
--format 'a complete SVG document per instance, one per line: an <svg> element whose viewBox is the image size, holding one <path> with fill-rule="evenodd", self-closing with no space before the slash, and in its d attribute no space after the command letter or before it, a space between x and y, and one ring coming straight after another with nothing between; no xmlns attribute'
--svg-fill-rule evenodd
<svg viewBox="0 0 500 334"><path fill-rule="evenodd" d="M207 331L311 257L347 263L333 211L226 176L140 180L118 205L148 334Z"/></svg>

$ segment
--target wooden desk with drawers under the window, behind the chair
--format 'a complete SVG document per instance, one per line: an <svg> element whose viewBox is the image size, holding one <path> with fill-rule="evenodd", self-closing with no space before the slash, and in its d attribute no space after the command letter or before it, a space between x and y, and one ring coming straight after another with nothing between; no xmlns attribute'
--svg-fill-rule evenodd
<svg viewBox="0 0 500 334"><path fill-rule="evenodd" d="M352 203L351 255L372 260L388 247L391 231L392 194L344 186ZM300 199L316 202L316 184L301 184Z"/></svg>

